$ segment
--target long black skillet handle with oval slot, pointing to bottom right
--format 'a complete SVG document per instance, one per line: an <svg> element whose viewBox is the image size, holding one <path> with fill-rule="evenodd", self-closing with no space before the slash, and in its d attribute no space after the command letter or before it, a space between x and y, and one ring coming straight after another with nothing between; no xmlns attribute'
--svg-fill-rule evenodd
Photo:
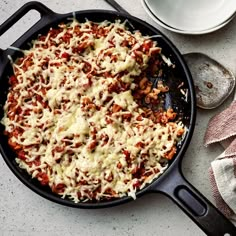
<svg viewBox="0 0 236 236"><path fill-rule="evenodd" d="M151 191L170 197L207 235L235 236L236 227L177 168L172 170Z"/></svg>

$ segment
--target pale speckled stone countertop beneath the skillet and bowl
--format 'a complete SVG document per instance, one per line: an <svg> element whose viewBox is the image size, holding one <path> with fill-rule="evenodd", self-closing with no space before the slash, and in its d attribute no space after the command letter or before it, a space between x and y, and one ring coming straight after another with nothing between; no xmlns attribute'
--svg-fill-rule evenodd
<svg viewBox="0 0 236 236"><path fill-rule="evenodd" d="M0 24L20 8L26 0L0 0ZM82 9L112 9L103 0L40 0L55 12L67 13ZM236 73L236 18L224 28L207 35L179 35L154 23L143 10L140 0L118 0L128 12L159 28L181 53L203 52ZM12 30L0 37L5 49L25 32L39 14L30 12ZM37 18L38 19L38 18ZM184 176L213 202L208 179L210 163L221 152L219 144L203 146L207 123L232 100L214 110L197 111L197 122L191 144L182 163ZM48 201L23 185L0 156L0 235L1 236L201 236L205 235L170 199L149 194L121 206L85 210Z"/></svg>

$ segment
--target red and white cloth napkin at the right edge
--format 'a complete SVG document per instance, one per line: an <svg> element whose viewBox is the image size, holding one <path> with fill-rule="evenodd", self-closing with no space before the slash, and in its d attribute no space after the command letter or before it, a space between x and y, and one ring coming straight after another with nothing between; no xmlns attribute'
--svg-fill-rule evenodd
<svg viewBox="0 0 236 236"><path fill-rule="evenodd" d="M234 101L212 117L205 133L205 146L220 142L225 151L209 169L213 197L218 209L236 220L236 94Z"/></svg>

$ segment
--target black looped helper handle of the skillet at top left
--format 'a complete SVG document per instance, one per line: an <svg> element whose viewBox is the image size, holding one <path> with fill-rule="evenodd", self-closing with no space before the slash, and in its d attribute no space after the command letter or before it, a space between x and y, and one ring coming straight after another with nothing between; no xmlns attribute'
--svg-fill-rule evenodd
<svg viewBox="0 0 236 236"><path fill-rule="evenodd" d="M4 34L11 26L13 26L18 20L20 20L30 10L36 10L40 13L41 18L54 14L52 10L47 8L40 2L32 1L23 5L12 16L10 16L2 25L0 25L0 36Z"/></svg>

